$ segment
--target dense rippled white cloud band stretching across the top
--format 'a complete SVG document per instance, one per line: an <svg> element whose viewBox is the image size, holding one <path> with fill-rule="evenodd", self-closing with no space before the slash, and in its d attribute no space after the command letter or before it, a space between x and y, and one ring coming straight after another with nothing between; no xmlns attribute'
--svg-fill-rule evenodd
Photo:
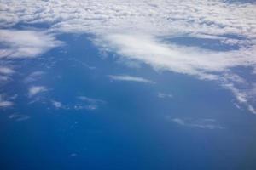
<svg viewBox="0 0 256 170"><path fill-rule="evenodd" d="M255 3L189 0L3 0L2 26L19 22L53 25L69 32L140 31L157 35L226 33L255 37ZM230 38L231 39L231 38Z"/></svg>

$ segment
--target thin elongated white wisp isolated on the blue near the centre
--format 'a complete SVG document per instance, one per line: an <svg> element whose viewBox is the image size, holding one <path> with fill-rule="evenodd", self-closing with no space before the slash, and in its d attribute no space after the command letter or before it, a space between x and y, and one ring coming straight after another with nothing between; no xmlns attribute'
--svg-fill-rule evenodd
<svg viewBox="0 0 256 170"><path fill-rule="evenodd" d="M108 77L116 81L154 83L143 77L132 77L129 75L109 75Z"/></svg>

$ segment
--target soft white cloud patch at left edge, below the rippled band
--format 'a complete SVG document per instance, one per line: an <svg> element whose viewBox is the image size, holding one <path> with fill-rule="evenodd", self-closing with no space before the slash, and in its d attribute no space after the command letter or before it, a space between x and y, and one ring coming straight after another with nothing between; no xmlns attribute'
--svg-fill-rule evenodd
<svg viewBox="0 0 256 170"><path fill-rule="evenodd" d="M5 46L0 49L0 58L8 59L35 57L61 44L43 31L3 29L0 29L0 43Z"/></svg>

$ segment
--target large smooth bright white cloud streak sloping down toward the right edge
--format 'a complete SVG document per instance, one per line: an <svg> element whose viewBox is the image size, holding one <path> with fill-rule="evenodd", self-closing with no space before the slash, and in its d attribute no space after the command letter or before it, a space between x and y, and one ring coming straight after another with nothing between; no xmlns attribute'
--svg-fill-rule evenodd
<svg viewBox="0 0 256 170"><path fill-rule="evenodd" d="M256 65L256 50L243 56L242 50L216 52L201 48L189 48L162 42L145 35L114 34L105 37L106 42L96 42L108 46L121 56L137 59L157 70L175 71L201 78L216 79L214 73L227 71L236 66Z"/></svg>

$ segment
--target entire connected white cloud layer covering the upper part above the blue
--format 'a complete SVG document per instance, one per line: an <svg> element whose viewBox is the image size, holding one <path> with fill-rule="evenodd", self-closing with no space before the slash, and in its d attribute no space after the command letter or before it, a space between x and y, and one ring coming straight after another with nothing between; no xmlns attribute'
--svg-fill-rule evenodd
<svg viewBox="0 0 256 170"><path fill-rule="evenodd" d="M241 105L255 112L255 98L249 93L253 92L255 80L242 77L233 70L242 67L251 69L250 74L255 72L256 3L3 0L0 5L0 42L5 44L0 58L42 54L60 45L53 33L90 33L99 48L125 59L138 60L157 71L175 71L215 80L229 89ZM17 24L46 24L46 31L10 29ZM201 43L214 40L220 46L236 48L209 50L202 45L188 47L166 40L173 37L197 38ZM122 79L127 80L127 77Z"/></svg>

